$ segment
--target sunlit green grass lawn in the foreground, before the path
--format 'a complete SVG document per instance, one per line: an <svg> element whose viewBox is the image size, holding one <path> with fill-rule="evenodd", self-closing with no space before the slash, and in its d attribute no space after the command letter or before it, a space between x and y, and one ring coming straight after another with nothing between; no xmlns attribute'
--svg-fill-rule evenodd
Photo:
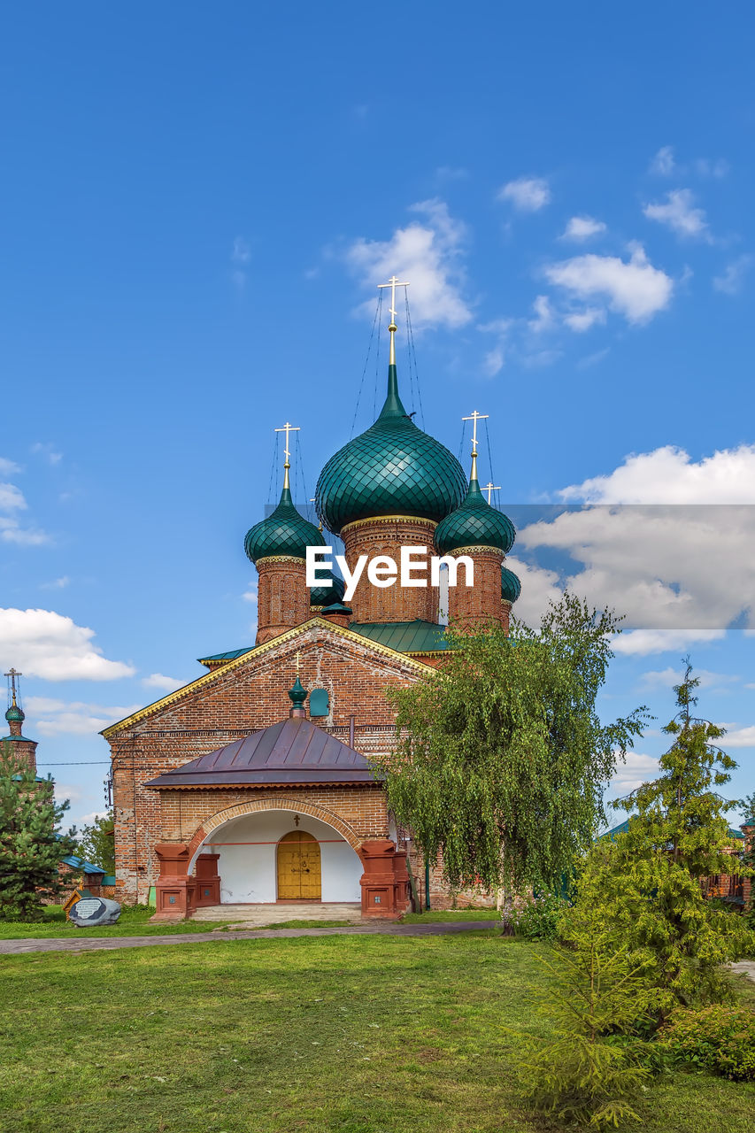
<svg viewBox="0 0 755 1133"><path fill-rule="evenodd" d="M3 1133L517 1133L537 946L482 931L3 957ZM753 988L755 990L755 988ZM750 1133L755 1087L659 1080L647 1133Z"/></svg>

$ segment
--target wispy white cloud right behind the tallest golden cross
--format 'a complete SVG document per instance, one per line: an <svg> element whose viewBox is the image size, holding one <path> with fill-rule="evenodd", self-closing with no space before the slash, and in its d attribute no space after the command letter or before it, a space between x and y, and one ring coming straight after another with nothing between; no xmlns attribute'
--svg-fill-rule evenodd
<svg viewBox="0 0 755 1133"><path fill-rule="evenodd" d="M461 295L466 227L438 198L412 205L410 211L425 222L413 221L406 228L398 228L389 240L359 237L347 248L346 263L373 292L393 274L409 280L415 327L465 326L472 320L472 310ZM362 309L372 315L374 299Z"/></svg>

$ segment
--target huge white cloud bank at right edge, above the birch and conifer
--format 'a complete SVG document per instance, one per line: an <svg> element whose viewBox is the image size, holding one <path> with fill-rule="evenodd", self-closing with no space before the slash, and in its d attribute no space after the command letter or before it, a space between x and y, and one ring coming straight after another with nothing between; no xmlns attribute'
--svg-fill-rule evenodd
<svg viewBox="0 0 755 1133"><path fill-rule="evenodd" d="M588 506L529 523L518 545L566 552L576 565L561 586L627 615L617 653L685 649L740 620L755 629L755 445L697 462L659 449L558 496Z"/></svg>

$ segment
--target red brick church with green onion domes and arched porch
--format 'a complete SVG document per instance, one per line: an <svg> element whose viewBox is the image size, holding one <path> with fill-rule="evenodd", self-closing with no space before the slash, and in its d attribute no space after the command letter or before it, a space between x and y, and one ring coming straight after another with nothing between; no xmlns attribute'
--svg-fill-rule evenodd
<svg viewBox="0 0 755 1133"><path fill-rule="evenodd" d="M449 904L441 871L396 828L371 772L393 738L385 691L442 663L439 588L378 587L365 570L346 605L334 574L306 586L306 548L325 545L324 529L343 542L349 571L360 555L398 563L402 546L469 556L474 586L449 588L451 622L508 627L519 595L503 565L514 527L481 491L476 443L467 480L401 402L393 307L385 402L322 470L321 526L292 503L287 443L280 503L246 535L258 572L254 646L202 658L197 680L103 732L118 896L146 902L154 887L158 918L286 901L396 917L409 875L421 902Z"/></svg>

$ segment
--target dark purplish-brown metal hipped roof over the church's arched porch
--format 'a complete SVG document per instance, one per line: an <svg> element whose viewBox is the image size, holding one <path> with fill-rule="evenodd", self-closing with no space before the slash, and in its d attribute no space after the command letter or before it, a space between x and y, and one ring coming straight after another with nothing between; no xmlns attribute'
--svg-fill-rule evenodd
<svg viewBox="0 0 755 1133"><path fill-rule="evenodd" d="M150 780L155 791L201 786L374 783L364 756L303 716L234 740L218 751Z"/></svg>

